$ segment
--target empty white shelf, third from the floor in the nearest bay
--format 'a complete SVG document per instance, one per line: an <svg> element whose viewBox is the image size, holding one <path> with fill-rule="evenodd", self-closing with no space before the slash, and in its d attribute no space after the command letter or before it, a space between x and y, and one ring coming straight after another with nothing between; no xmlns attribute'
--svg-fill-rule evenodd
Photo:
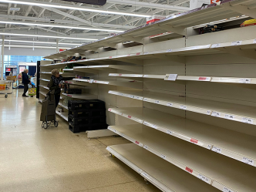
<svg viewBox="0 0 256 192"><path fill-rule="evenodd" d="M109 109L109 111L256 167L254 136L187 120L153 109L129 107Z"/></svg>

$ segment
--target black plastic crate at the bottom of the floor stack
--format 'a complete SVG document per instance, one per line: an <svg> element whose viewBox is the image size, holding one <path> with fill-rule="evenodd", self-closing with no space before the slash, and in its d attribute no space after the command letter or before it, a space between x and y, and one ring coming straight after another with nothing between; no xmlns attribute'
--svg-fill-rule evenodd
<svg viewBox="0 0 256 192"><path fill-rule="evenodd" d="M106 130L108 125L106 123L103 124L95 124L95 125L74 125L69 123L69 130L72 133L85 132L87 130Z"/></svg>

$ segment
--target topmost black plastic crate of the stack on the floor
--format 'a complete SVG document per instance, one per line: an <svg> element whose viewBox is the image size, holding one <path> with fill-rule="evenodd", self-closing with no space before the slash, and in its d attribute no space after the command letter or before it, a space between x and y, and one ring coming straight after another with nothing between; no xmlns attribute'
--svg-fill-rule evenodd
<svg viewBox="0 0 256 192"><path fill-rule="evenodd" d="M88 109L106 109L105 102L99 99L90 100L70 100L68 104L69 110L88 110Z"/></svg>

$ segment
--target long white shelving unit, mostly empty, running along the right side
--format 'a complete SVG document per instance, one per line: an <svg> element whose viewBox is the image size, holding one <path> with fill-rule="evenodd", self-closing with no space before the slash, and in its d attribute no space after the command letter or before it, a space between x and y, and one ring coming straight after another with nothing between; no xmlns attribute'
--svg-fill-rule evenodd
<svg viewBox="0 0 256 192"><path fill-rule="evenodd" d="M256 26L197 30L205 23L255 19L254 4L222 1L45 58L86 57L72 62L84 66L64 72L90 80L66 83L88 86L89 96L106 102L109 132L133 142L106 150L160 190L252 192Z"/></svg>

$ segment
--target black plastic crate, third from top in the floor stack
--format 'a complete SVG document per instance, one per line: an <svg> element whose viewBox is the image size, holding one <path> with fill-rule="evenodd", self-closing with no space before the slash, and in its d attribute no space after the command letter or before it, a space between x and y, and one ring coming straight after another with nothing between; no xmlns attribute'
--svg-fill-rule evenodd
<svg viewBox="0 0 256 192"><path fill-rule="evenodd" d="M83 118L72 118L69 115L69 123L74 125L93 125L106 123L106 116L103 117L83 117Z"/></svg>

